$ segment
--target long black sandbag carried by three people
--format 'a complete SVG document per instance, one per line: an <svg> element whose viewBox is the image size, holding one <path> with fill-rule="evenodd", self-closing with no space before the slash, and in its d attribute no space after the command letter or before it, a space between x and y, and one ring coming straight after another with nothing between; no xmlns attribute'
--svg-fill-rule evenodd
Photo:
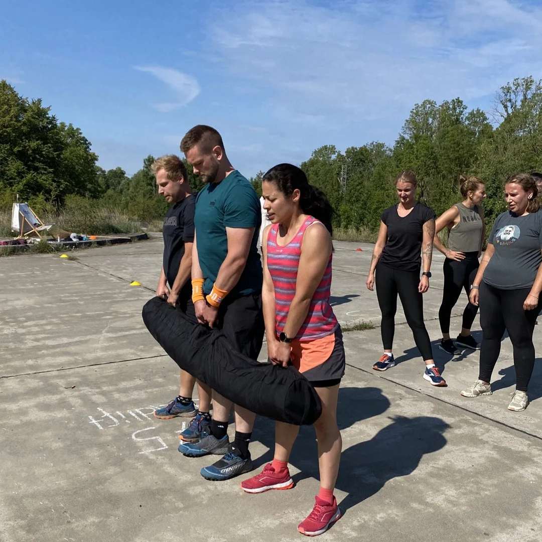
<svg viewBox="0 0 542 542"><path fill-rule="evenodd" d="M142 316L151 335L180 369L235 404L294 425L311 425L320 417L320 398L295 367L243 356L222 332L194 324L158 297L145 304Z"/></svg>

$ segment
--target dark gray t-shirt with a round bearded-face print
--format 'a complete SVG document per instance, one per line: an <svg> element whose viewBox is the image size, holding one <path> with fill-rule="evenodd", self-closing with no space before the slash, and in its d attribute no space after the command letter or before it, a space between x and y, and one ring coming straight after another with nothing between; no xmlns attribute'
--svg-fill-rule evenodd
<svg viewBox="0 0 542 542"><path fill-rule="evenodd" d="M528 288L542 263L542 210L525 216L506 211L493 224L487 240L495 253L483 273L483 281L495 288Z"/></svg>

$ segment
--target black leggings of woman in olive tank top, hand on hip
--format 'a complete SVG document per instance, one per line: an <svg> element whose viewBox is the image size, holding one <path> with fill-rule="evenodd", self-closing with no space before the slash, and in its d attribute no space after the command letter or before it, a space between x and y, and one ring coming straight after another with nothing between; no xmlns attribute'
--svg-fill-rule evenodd
<svg viewBox="0 0 542 542"><path fill-rule="evenodd" d="M444 260L444 265L442 266L442 270L444 271L444 289L442 292L441 307L438 309L438 322L440 323L443 334L450 332L451 310L457 303L463 288L467 296L469 295L470 285L476 276L478 266L477 252L466 252L465 259L460 262L450 260L449 258ZM470 327L473 325L476 312L478 312L478 307L468 302L463 311L462 323L462 327L466 330L470 330Z"/></svg>

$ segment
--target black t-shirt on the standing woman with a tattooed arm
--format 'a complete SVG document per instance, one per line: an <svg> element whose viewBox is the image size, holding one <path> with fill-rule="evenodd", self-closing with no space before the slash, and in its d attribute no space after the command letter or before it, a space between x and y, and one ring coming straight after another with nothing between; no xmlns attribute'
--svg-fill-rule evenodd
<svg viewBox="0 0 542 542"><path fill-rule="evenodd" d="M433 209L416 203L408 215L397 214L397 205L386 209L380 220L388 226L388 238L379 263L402 271L420 272L423 224L435 218Z"/></svg>

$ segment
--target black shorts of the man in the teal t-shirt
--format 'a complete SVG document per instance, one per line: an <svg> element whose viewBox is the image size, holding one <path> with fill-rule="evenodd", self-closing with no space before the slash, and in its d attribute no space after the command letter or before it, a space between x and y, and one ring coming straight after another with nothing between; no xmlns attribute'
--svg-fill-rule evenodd
<svg viewBox="0 0 542 542"><path fill-rule="evenodd" d="M218 307L215 327L224 333L238 352L258 359L265 331L262 293L228 294Z"/></svg>

